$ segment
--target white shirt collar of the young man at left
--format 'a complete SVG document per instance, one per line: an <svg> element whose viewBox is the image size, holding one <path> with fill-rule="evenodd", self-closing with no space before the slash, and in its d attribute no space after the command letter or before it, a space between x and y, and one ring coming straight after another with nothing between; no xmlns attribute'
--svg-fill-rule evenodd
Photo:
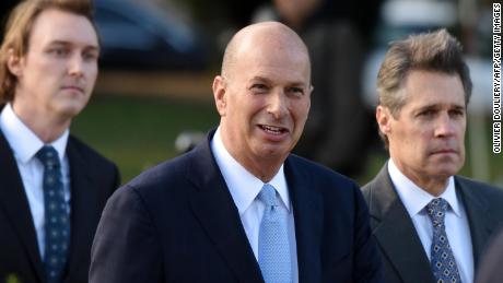
<svg viewBox="0 0 503 283"><path fill-rule="evenodd" d="M21 163L30 162L44 146L44 142L17 117L9 103L0 115L0 128L9 142L14 155ZM63 161L69 137L67 129L57 140L49 143L58 152L60 162Z"/></svg>

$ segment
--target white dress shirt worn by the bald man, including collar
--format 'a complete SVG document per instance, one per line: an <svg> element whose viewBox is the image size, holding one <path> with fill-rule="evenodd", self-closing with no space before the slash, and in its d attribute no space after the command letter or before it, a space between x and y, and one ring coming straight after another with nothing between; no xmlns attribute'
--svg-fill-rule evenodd
<svg viewBox="0 0 503 283"><path fill-rule="evenodd" d="M254 250L255 258L258 260L258 232L266 208L258 200L257 196L265 184L232 157L222 142L220 128L217 129L211 141L211 151L225 179L232 199L237 207L241 222L245 228L249 245ZM290 255L292 257L292 278L293 282L299 282L295 223L283 165L281 165L278 174L268 184L272 185L280 194L280 209L286 211Z"/></svg>

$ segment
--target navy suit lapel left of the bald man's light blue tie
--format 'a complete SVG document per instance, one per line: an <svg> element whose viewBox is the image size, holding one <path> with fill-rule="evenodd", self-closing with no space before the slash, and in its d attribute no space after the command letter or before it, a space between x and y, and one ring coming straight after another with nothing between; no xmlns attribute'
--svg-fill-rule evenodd
<svg viewBox="0 0 503 283"><path fill-rule="evenodd" d="M190 196L194 214L238 282L264 282L237 208L211 153L212 135L190 153L186 177L197 187Z"/></svg>

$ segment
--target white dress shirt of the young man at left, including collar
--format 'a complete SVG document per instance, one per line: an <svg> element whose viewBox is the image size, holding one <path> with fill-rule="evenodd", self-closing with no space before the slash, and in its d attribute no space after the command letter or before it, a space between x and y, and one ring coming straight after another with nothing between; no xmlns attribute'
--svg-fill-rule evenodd
<svg viewBox="0 0 503 283"><path fill-rule="evenodd" d="M7 104L0 115L0 130L14 153L21 179L24 186L33 224L37 234L38 250L45 255L45 208L44 208L44 165L35 154L45 145L44 142L17 117L11 104ZM70 168L66 155L69 131L48 145L58 152L61 163L62 184L67 210L70 213Z"/></svg>

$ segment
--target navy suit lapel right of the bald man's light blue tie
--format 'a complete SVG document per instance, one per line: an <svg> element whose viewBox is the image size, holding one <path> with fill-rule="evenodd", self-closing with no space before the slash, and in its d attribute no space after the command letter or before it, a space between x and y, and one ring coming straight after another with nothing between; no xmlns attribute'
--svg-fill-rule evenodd
<svg viewBox="0 0 503 283"><path fill-rule="evenodd" d="M297 250L299 282L321 281L319 248L323 234L323 199L311 176L288 158L284 174L293 204Z"/></svg>

